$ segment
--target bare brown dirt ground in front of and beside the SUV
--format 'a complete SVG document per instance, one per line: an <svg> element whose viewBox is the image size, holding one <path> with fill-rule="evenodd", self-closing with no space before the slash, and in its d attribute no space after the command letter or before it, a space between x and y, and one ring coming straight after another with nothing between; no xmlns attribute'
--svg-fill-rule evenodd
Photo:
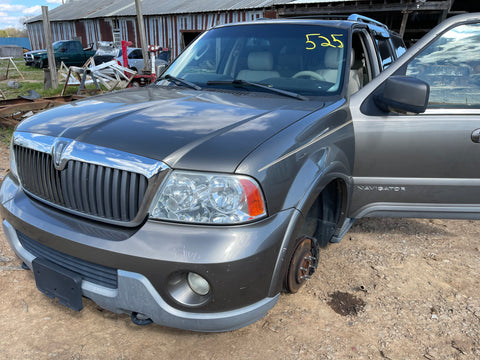
<svg viewBox="0 0 480 360"><path fill-rule="evenodd" d="M479 233L476 221L360 220L299 293L219 334L140 327L89 300L64 308L2 233L0 359L480 359Z"/></svg>

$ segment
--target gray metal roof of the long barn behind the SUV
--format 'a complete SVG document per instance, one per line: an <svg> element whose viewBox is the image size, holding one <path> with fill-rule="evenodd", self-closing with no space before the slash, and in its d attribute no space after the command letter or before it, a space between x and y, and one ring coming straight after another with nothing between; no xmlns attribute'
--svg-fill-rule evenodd
<svg viewBox="0 0 480 360"><path fill-rule="evenodd" d="M337 0L340 1L340 0ZM344 0L343 0L344 1ZM291 0L143 0L144 16L262 9L288 4ZM318 1L323 2L323 1ZM50 21L136 16L134 0L70 0L49 11ZM41 21L41 16L26 23Z"/></svg>

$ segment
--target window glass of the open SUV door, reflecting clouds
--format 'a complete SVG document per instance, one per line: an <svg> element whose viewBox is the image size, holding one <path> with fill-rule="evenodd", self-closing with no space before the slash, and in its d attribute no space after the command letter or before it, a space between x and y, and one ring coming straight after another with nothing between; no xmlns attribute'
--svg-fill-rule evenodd
<svg viewBox="0 0 480 360"><path fill-rule="evenodd" d="M408 64L406 74L430 84L429 107L480 106L480 24L457 26Z"/></svg>

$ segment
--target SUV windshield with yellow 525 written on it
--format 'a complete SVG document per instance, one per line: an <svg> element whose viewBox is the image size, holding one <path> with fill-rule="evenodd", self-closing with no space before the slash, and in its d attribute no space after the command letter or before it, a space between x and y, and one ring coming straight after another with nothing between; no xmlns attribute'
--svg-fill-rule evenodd
<svg viewBox="0 0 480 360"><path fill-rule="evenodd" d="M342 90L347 41L346 30L319 25L226 26L207 31L164 75L206 88L243 80L307 96L336 95Z"/></svg>

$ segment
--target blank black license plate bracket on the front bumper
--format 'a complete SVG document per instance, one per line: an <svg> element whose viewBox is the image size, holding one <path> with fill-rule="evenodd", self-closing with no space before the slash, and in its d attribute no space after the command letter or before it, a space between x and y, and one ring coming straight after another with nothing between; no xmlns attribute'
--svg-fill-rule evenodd
<svg viewBox="0 0 480 360"><path fill-rule="evenodd" d="M41 258L32 261L32 270L38 290L70 309L83 309L80 275Z"/></svg>

